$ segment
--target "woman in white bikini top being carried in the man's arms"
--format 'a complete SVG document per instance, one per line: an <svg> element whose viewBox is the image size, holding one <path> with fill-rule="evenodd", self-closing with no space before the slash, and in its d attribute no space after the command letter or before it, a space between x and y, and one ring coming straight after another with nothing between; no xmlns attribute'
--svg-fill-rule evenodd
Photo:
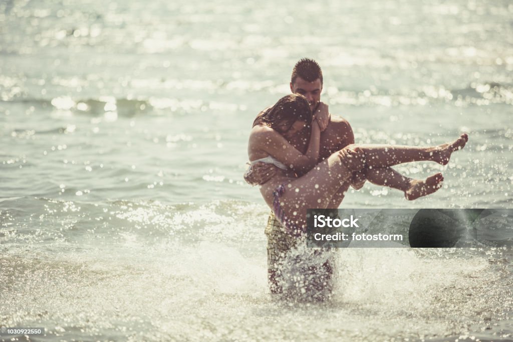
<svg viewBox="0 0 513 342"><path fill-rule="evenodd" d="M374 172L379 172L383 166L413 161L435 161L445 165L452 152L463 148L468 140L463 134L450 144L433 147L355 144L315 165L319 157L321 131L317 120L312 119L308 101L301 95L290 94L255 120L249 137L251 163L272 163L282 169L261 186L260 192L287 232L294 236L306 231L307 208L327 208L333 195L352 173L364 168L367 179L379 178L390 187L400 188L409 199L437 191L442 185L442 174L410 182L408 188L404 188L398 186L393 177L386 179L383 178L386 175ZM308 149L302 154L286 138L305 126L310 126L311 136ZM304 174L306 170L309 171ZM304 176L294 178L294 172Z"/></svg>

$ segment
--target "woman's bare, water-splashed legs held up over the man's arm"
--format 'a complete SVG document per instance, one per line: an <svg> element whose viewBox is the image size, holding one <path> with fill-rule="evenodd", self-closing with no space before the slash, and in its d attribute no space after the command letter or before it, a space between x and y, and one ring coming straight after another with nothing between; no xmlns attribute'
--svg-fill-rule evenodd
<svg viewBox="0 0 513 342"><path fill-rule="evenodd" d="M333 196L345 182L349 181L353 172L364 167L371 169L372 166L389 166L421 160L446 164L451 154L463 148L467 140L467 135L463 134L452 143L435 147L349 145L316 165L303 177L287 184L285 193L280 197L280 205L290 223L298 227L304 226L306 209L327 208ZM392 176L396 177L396 174ZM425 181L417 181L417 186L412 184L414 186L410 186L405 192L411 195L411 199L418 198L424 196L422 194L425 192L434 192L442 180L441 175L436 174ZM399 184L402 180L398 178L397 181Z"/></svg>

